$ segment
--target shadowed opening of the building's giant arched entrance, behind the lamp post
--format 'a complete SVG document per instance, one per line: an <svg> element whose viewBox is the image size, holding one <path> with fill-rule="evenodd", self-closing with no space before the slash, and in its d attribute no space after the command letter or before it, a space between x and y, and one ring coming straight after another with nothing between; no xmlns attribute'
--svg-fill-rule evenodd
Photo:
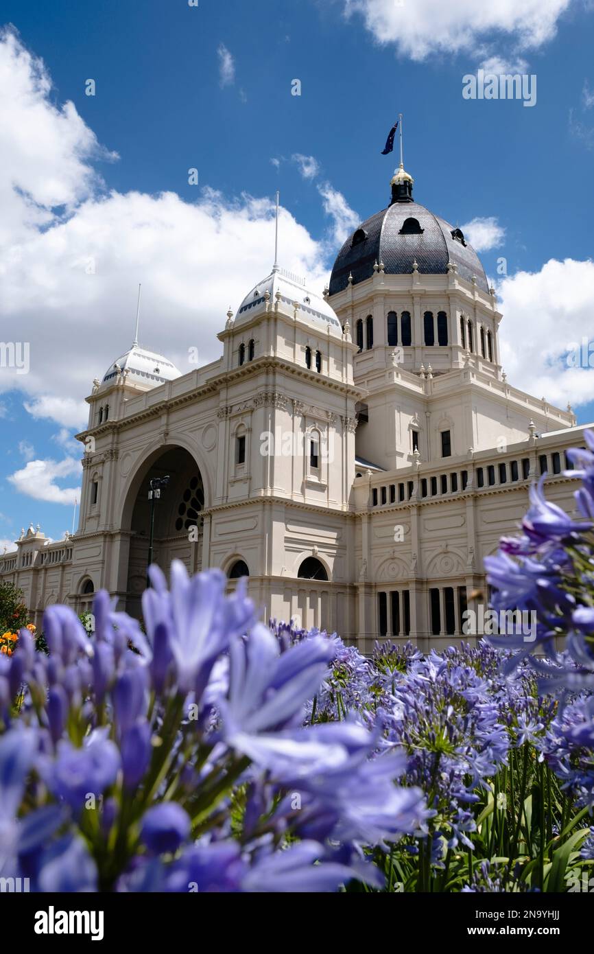
<svg viewBox="0 0 594 954"><path fill-rule="evenodd" d="M126 609L141 615L140 598L146 589L151 501L155 478L169 477L154 500L153 562L169 575L172 560L181 560L191 573L202 568L202 517L204 484L194 457L183 447L171 447L147 463L134 481L130 517L130 553Z"/></svg>

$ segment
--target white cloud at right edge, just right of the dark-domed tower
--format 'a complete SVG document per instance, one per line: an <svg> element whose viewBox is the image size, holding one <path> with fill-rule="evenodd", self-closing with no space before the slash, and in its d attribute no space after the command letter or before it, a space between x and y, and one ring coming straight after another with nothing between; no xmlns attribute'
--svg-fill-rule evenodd
<svg viewBox="0 0 594 954"><path fill-rule="evenodd" d="M594 368L587 361L573 367L566 356L570 345L594 337L594 261L550 259L540 272L503 279L498 293L502 365L510 384L561 407L591 402Z"/></svg>

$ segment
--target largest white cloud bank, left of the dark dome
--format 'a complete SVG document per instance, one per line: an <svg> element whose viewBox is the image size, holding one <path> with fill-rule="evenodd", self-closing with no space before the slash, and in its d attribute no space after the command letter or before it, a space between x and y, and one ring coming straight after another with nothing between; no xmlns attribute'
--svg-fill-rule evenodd
<svg viewBox="0 0 594 954"><path fill-rule="evenodd" d="M31 342L29 373L7 368L0 396L17 388L34 417L80 429L92 379L131 345L139 281L142 344L182 372L194 366L191 347L201 363L219 357L229 305L235 310L272 266L275 203L209 189L194 202L106 194L100 182L95 191L94 135L73 107L67 116L53 104L43 64L12 34L0 39L0 64L11 91L0 119L0 326L3 340ZM17 173L19 190L47 203L42 215L13 195ZM283 208L279 238L283 266L321 290L325 245Z"/></svg>

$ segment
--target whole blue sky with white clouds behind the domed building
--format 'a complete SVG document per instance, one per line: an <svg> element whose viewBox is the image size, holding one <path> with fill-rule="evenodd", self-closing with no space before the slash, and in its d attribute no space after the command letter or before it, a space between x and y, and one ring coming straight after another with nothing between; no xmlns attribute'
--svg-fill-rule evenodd
<svg viewBox="0 0 594 954"><path fill-rule="evenodd" d="M271 263L276 189L281 259L323 284L388 200L396 154L380 150L399 112L416 198L481 220L509 380L594 418L590 369L563 365L594 304L594 10L486 6L2 0L0 339L31 342L31 371L0 367L0 541L30 521L72 529L81 399L130 344L138 281L141 340L212 360L227 308ZM464 100L481 64L536 74L536 105Z"/></svg>

